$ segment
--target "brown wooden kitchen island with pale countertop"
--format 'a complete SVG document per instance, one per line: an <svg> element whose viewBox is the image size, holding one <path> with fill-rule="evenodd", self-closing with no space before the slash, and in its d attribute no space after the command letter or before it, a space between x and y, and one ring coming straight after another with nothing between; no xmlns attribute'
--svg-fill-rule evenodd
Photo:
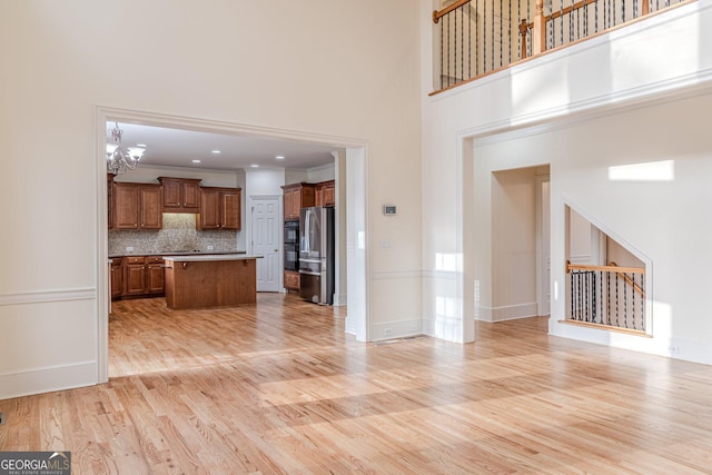
<svg viewBox="0 0 712 475"><path fill-rule="evenodd" d="M255 260L260 257L246 254L166 256L166 304L175 309L255 304Z"/></svg>

